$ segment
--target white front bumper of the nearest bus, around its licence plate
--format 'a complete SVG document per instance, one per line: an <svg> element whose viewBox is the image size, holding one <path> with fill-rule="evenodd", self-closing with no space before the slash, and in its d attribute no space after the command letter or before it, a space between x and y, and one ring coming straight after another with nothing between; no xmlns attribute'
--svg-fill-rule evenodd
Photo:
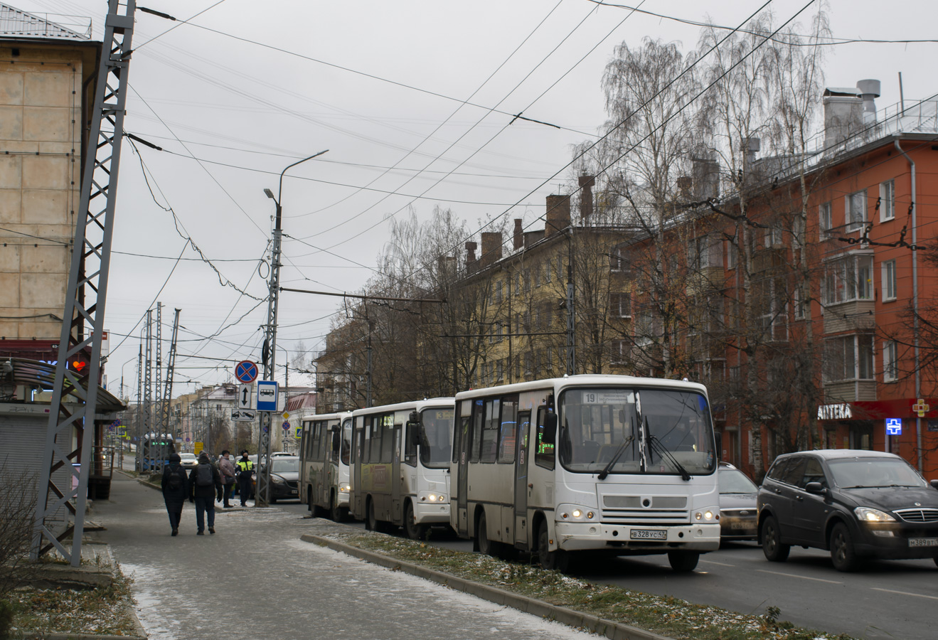
<svg viewBox="0 0 938 640"><path fill-rule="evenodd" d="M719 549L719 524L629 526L558 522L554 526L557 546L567 551L609 549L633 553L661 553L677 549Z"/></svg>

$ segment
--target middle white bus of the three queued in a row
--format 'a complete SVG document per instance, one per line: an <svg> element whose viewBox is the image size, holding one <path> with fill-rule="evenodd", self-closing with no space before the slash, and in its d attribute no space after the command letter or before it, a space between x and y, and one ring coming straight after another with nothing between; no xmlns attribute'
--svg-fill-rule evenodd
<svg viewBox="0 0 938 640"><path fill-rule="evenodd" d="M352 514L372 530L403 526L417 540L449 525L453 399L356 409Z"/></svg>

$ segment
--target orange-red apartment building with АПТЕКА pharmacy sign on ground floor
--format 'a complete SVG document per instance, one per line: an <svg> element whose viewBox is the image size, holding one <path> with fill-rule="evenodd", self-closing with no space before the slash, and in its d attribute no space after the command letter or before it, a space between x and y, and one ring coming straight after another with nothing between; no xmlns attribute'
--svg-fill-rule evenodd
<svg viewBox="0 0 938 640"><path fill-rule="evenodd" d="M850 448L938 478L938 102L877 118L879 83L857 85L825 91L801 168L752 145L753 186L669 232L688 247L685 314L703 318L673 350L711 389L724 459L758 477L784 450Z"/></svg>

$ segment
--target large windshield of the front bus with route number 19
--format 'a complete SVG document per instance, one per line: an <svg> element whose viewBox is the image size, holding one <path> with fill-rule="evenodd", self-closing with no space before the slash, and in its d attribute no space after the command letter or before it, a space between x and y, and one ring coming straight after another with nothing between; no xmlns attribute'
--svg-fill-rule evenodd
<svg viewBox="0 0 938 640"><path fill-rule="evenodd" d="M687 477L716 469L706 398L679 389L567 389L557 450L569 471Z"/></svg>

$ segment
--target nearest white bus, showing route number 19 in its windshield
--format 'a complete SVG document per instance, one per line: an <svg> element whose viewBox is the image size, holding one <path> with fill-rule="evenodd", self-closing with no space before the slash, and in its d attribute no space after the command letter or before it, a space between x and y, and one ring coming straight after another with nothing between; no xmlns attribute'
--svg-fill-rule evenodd
<svg viewBox="0 0 938 640"><path fill-rule="evenodd" d="M450 520L477 551L668 554L719 548L717 455L703 385L574 375L456 395Z"/></svg>

